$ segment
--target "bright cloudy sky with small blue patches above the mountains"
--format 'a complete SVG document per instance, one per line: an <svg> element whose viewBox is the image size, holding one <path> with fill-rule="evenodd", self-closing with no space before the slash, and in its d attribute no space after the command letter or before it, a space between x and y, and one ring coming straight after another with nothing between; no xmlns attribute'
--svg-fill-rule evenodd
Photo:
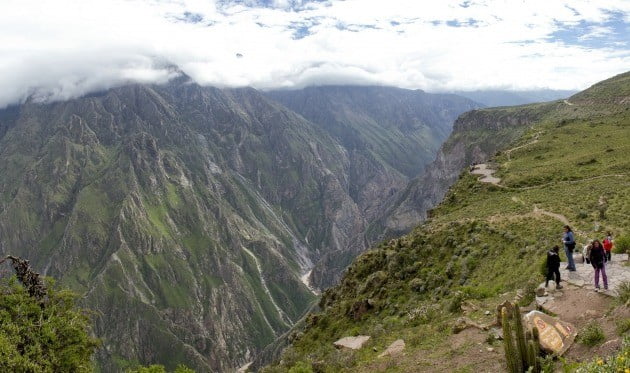
<svg viewBox="0 0 630 373"><path fill-rule="evenodd" d="M268 90L581 90L630 70L629 0L0 0L0 108L180 72Z"/></svg>

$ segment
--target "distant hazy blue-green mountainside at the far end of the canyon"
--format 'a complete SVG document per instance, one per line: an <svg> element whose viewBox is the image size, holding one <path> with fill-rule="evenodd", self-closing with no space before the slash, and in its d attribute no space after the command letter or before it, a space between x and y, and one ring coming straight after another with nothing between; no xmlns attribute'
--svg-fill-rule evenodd
<svg viewBox="0 0 630 373"><path fill-rule="evenodd" d="M367 222L355 236L363 243L354 248L359 251L330 251L317 263L312 280L320 288L336 284L352 259L380 238L383 231L374 229L373 222L383 218L410 180L424 173L457 116L479 107L455 95L392 87L309 87L267 96L343 146L349 160L349 194Z"/></svg>

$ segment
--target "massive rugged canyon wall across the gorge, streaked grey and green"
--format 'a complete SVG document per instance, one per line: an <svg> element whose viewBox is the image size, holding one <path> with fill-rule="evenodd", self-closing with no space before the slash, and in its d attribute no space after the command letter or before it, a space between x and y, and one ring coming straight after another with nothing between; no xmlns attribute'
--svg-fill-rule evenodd
<svg viewBox="0 0 630 373"><path fill-rule="evenodd" d="M445 121L474 105L449 100ZM184 80L0 111L0 252L86 294L105 371L232 370L315 299L302 276L331 283L366 248L378 201L422 169L407 157L449 130L361 115L353 140L253 89ZM415 142L399 152L392 132Z"/></svg>

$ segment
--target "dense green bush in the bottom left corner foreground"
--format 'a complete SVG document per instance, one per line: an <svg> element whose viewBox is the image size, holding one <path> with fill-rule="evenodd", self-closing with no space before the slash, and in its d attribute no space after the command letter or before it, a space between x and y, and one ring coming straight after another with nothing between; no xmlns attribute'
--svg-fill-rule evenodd
<svg viewBox="0 0 630 373"><path fill-rule="evenodd" d="M15 277L0 280L0 371L91 372L98 345L77 295L47 279L44 302Z"/></svg>

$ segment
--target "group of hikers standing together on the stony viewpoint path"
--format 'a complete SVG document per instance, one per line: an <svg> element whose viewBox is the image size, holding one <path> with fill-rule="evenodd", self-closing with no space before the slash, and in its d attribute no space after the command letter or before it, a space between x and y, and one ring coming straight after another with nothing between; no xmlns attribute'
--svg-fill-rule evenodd
<svg viewBox="0 0 630 373"><path fill-rule="evenodd" d="M573 252L575 251L575 236L570 226L564 226L564 234L562 235L562 244L564 246L564 253L567 257L566 269L570 272L576 271L575 261L573 259ZM612 234L607 232L606 237L600 242L598 239L592 240L586 246L582 252L583 260L585 264L591 264L595 269L594 285L595 291L599 291L599 278L604 282L604 289L608 290L608 277L606 276L606 263L611 260L611 250L613 247ZM549 281L554 280L556 282L556 289L562 289L560 285L560 247L555 245L549 252L547 252L547 280L545 287L549 286Z"/></svg>

